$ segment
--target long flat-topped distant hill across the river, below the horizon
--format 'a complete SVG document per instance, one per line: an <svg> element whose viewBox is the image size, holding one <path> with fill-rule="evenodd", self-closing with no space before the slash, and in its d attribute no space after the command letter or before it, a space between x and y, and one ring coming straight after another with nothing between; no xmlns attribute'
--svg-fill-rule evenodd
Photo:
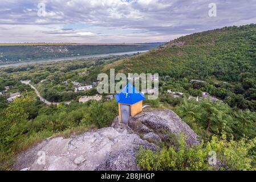
<svg viewBox="0 0 256 182"><path fill-rule="evenodd" d="M17 43L0 44L0 64L17 63L58 57L96 55L102 53L145 51L164 43L141 44L74 44L74 43Z"/></svg>

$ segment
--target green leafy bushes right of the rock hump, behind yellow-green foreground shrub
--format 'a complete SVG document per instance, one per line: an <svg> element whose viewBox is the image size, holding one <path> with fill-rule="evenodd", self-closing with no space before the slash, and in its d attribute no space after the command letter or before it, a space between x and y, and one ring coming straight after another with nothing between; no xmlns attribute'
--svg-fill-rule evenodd
<svg viewBox="0 0 256 182"><path fill-rule="evenodd" d="M241 139L256 137L256 112L233 109L227 104L211 102L207 99L184 100L176 107L183 121L201 137L220 134L225 131L228 137Z"/></svg>

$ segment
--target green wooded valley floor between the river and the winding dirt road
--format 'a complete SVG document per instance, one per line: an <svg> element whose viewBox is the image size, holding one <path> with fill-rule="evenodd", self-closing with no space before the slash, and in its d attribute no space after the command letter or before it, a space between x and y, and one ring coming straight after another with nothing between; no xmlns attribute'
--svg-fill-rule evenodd
<svg viewBox="0 0 256 182"><path fill-rule="evenodd" d="M75 86L72 85L71 81L91 85L92 82L97 81L97 74L100 73L98 68L102 67L102 64L111 63L128 56L108 56L2 68L0 69L0 92L5 90L5 86L11 88L6 94L31 90L29 85L20 82L20 80L31 80L31 84L35 85L40 95L51 102L71 101L85 95L92 96L96 94L96 89L87 92L74 92ZM90 72L90 76L78 75L79 72L84 71ZM68 81L68 84L66 85L64 81Z"/></svg>

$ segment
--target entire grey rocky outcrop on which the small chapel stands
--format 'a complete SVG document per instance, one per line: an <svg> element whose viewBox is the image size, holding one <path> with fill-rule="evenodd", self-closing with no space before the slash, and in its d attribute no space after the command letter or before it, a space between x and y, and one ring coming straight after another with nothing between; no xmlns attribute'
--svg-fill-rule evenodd
<svg viewBox="0 0 256 182"><path fill-rule="evenodd" d="M71 138L48 138L17 157L15 170L139 170L140 147L157 150L168 133L183 133L191 146L197 135L171 110L149 110L120 125L88 131Z"/></svg>

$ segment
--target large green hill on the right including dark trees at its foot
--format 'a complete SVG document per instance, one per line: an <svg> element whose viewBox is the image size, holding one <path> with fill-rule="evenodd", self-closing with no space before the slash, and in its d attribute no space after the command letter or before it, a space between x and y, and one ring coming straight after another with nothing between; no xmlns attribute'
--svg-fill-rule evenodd
<svg viewBox="0 0 256 182"><path fill-rule="evenodd" d="M159 73L176 81L206 80L212 83L206 91L226 101L231 97L235 100L231 106L256 110L256 24L182 36L147 53L107 64L103 71L109 68L124 73ZM214 84L224 81L229 84Z"/></svg>

